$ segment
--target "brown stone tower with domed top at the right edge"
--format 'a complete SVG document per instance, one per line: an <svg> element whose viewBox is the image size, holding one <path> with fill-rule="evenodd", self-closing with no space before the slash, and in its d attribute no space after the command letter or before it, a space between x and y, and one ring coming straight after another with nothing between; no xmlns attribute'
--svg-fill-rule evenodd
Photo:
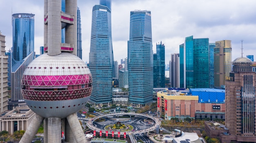
<svg viewBox="0 0 256 143"><path fill-rule="evenodd" d="M236 58L233 70L225 78L225 125L230 135L223 143L256 141L256 73L252 71L252 63L247 57ZM224 140L225 136L221 138Z"/></svg>

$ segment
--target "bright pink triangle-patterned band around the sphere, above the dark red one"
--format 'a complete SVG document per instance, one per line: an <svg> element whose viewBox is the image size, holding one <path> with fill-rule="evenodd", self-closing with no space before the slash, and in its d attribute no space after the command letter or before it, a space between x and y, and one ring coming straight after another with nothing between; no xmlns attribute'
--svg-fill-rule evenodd
<svg viewBox="0 0 256 143"><path fill-rule="evenodd" d="M92 83L92 75L23 75L21 84L29 86L70 86Z"/></svg>

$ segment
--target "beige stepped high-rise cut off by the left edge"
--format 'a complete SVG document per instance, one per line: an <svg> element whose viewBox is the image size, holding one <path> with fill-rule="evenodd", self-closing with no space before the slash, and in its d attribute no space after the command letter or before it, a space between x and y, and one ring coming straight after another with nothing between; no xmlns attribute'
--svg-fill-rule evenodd
<svg viewBox="0 0 256 143"><path fill-rule="evenodd" d="M8 55L5 55L5 36L2 35L0 31L0 112L4 112L7 110L7 60Z"/></svg>

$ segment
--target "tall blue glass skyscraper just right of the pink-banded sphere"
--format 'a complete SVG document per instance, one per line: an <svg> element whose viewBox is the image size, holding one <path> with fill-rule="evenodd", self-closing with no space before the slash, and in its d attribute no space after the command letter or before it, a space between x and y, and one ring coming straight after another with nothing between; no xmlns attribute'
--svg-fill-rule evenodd
<svg viewBox="0 0 256 143"><path fill-rule="evenodd" d="M115 75L111 34L111 1L100 0L92 9L92 33L89 53L94 104L112 102L112 78Z"/></svg>

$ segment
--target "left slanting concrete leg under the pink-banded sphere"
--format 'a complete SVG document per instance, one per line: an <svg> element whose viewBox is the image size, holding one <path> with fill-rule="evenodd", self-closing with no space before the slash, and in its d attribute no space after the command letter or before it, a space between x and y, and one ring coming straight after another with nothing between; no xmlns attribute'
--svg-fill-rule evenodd
<svg viewBox="0 0 256 143"><path fill-rule="evenodd" d="M34 139L36 132L38 131L41 123L43 122L44 117L39 116L38 114L35 115L33 121L29 124L25 134L22 136L20 143L31 143Z"/></svg>

